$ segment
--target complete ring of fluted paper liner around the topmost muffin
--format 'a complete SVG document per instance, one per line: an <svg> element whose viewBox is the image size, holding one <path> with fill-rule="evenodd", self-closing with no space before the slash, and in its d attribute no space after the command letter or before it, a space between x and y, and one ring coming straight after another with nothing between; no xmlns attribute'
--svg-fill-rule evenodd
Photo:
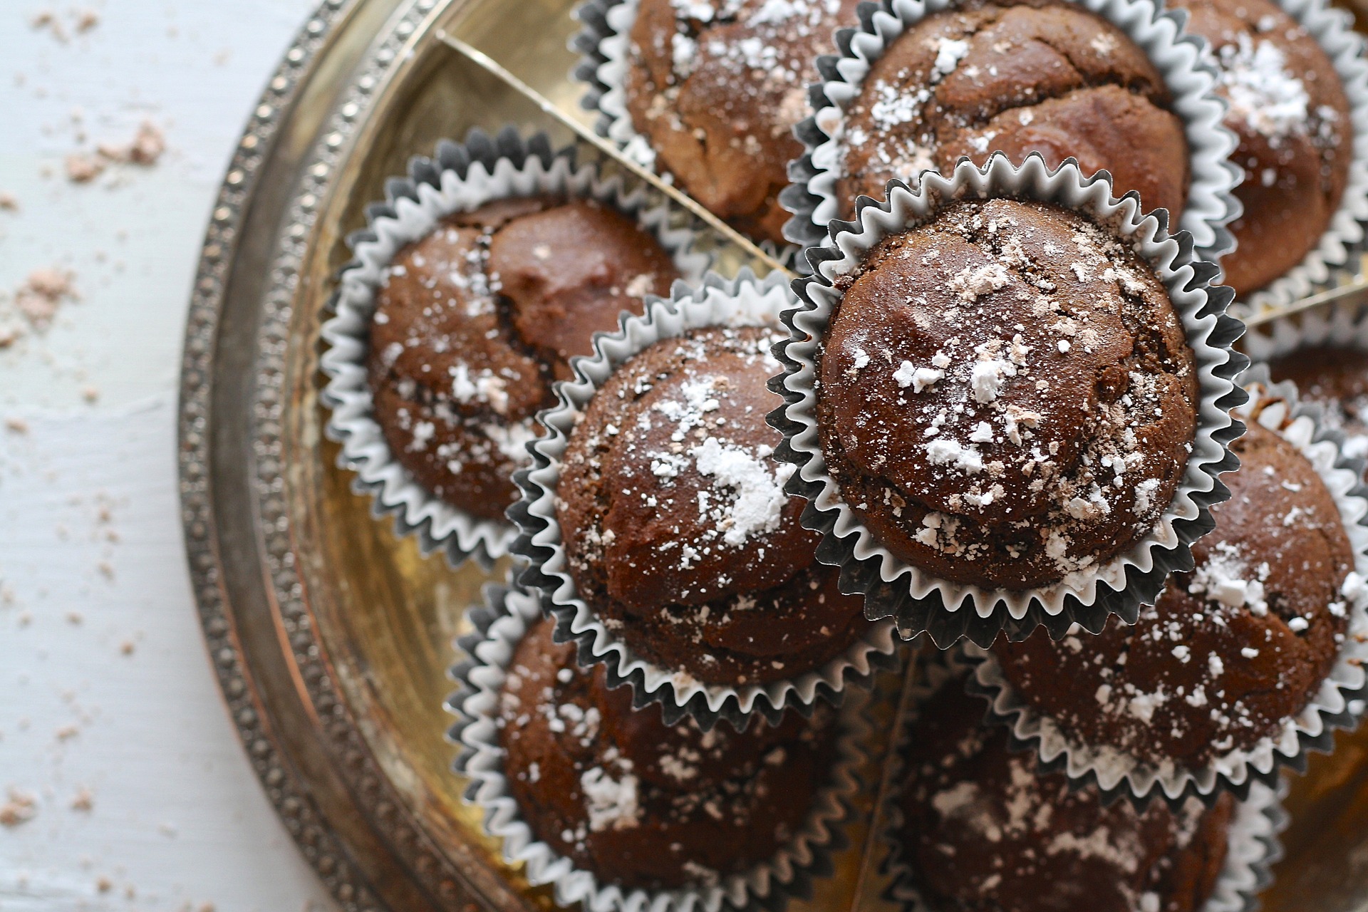
<svg viewBox="0 0 1368 912"><path fill-rule="evenodd" d="M840 301L837 278L858 268L881 238L930 219L949 202L990 197L1056 204L1127 242L1168 290L1196 357L1200 391L1192 454L1155 528L1099 562L1085 580L1021 591L940 580L889 552L841 499L817 429L814 380L822 338ZM1244 324L1224 313L1233 293L1211 284L1216 267L1194 257L1186 231L1168 235L1159 215L1141 213L1134 193L1116 200L1104 175L1085 179L1073 159L1049 171L1036 153L1021 167L997 153L982 168L960 161L948 176L926 172L917 190L892 180L886 201L862 198L856 220L837 223L832 234L822 246L804 252L814 275L793 282L802 301L784 313L792 338L776 347L785 375L770 381L785 405L770 414L770 423L784 432L776 458L798 465L787 489L808 499L803 524L824 533L818 554L841 566L841 591L865 593L865 617L893 617L904 637L928 632L941 648L966 636L988 645L1000 632L1019 640L1037 625L1055 639L1075 622L1100 630L1108 614L1134 623L1140 604L1153 602L1170 572L1192 567L1189 546L1213 525L1209 506L1230 496L1218 474L1238 466L1230 442L1244 425L1230 417L1230 409L1246 398L1234 376L1248 358L1230 347Z"/></svg>

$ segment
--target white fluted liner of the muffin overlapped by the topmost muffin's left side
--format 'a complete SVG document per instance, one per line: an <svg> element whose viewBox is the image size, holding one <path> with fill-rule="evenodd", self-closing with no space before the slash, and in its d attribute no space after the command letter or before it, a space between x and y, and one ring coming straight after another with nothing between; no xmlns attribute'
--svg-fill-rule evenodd
<svg viewBox="0 0 1368 912"><path fill-rule="evenodd" d="M606 665L610 686L629 682L636 706L661 703L665 721L670 725L684 714L705 729L711 729L718 718L744 727L757 711L776 721L789 706L807 714L818 699L837 703L848 684L865 685L877 670L896 662L892 625L873 623L841 655L814 671L769 684L705 684L684 671L646 660L609 630L579 598L566 566L555 489L570 432L594 392L622 362L659 339L713 325L777 328L780 312L792 306L792 301L781 275L772 273L765 280L757 280L750 269L743 269L731 282L709 273L692 290L676 284L672 301L651 302L644 317L624 317L621 331L595 336L592 357L572 362L576 379L557 383L558 405L539 416L550 433L529 444L534 465L514 476L523 488L523 498L509 509L509 518L520 529L513 552L529 562L520 581L529 589L540 591L549 611L555 614L557 641L576 640L581 663Z"/></svg>

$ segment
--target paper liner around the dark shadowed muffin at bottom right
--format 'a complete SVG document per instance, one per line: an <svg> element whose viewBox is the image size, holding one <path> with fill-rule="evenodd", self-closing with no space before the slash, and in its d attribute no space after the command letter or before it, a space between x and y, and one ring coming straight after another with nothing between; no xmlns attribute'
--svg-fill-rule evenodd
<svg viewBox="0 0 1368 912"><path fill-rule="evenodd" d="M953 651L945 662L929 663L926 682L914 693L912 712L915 714L915 707L937 688L956 686L953 678L963 673L963 662ZM895 775L902 778L902 751L897 751L891 762L899 764L899 773ZM1250 788L1249 796L1237 804L1230 820L1226 861L1201 912L1254 912L1259 908L1259 894L1274 881L1272 866L1283 857L1282 842L1278 838L1289 822L1280 801L1285 786L1271 788L1257 782ZM904 912L936 912L918 890L915 871L903 859L899 835L903 829L903 811L897 797L895 790L884 805L886 855L882 871L889 881L885 896L900 904Z"/></svg>

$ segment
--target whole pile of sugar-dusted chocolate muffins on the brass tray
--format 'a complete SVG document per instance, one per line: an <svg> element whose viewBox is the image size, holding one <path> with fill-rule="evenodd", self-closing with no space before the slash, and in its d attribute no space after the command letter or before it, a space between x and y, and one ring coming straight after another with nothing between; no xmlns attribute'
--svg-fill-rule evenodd
<svg viewBox="0 0 1368 912"><path fill-rule="evenodd" d="M669 297L677 250L583 193L386 265L386 446L521 533L458 768L561 904L802 894L893 621L943 652L888 759L886 898L1215 912L1265 879L1279 767L1363 686L1368 342L1280 351L1244 406L1231 293L1166 228L1241 299L1316 278L1368 81L1315 4L1178 5L1197 38L1118 3L591 0L602 130L814 275Z"/></svg>

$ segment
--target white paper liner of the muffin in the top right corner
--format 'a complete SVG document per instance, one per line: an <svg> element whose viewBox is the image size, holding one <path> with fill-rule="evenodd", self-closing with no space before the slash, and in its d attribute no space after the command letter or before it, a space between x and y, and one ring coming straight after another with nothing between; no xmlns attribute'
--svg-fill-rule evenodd
<svg viewBox="0 0 1368 912"><path fill-rule="evenodd" d="M1326 0L1274 1L1316 40L1339 74L1349 98L1353 159L1345 194L1320 242L1286 275L1235 302L1239 314L1286 306L1331 284L1346 268L1347 272L1357 272L1358 267L1350 257L1364 250L1364 226L1368 223L1368 62L1364 60L1364 38L1353 30L1353 16L1330 7Z"/></svg>

